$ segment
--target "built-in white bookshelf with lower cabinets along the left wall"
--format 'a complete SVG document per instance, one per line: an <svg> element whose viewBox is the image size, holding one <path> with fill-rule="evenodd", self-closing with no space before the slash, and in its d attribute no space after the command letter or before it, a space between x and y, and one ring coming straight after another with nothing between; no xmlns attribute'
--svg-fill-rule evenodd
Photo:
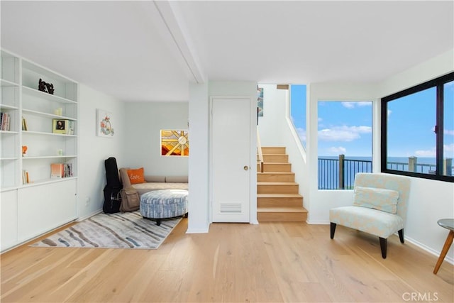
<svg viewBox="0 0 454 303"><path fill-rule="evenodd" d="M9 118L0 131L3 251L77 217L79 91L72 79L6 50L0 70L0 109ZM70 165L72 176L52 178L52 163ZM33 214L35 204L42 211Z"/></svg>

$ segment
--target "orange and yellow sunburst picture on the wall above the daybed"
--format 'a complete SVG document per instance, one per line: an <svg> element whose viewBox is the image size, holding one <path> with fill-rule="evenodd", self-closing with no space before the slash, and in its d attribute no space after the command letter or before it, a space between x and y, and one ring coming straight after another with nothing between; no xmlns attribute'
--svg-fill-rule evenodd
<svg viewBox="0 0 454 303"><path fill-rule="evenodd" d="M160 138L162 156L187 157L189 155L187 130L162 129Z"/></svg>

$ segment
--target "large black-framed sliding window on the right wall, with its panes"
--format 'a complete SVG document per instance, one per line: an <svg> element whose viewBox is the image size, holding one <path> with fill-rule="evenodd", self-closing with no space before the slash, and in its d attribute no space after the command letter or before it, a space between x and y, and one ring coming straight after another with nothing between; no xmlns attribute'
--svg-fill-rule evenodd
<svg viewBox="0 0 454 303"><path fill-rule="evenodd" d="M454 72L382 98L382 172L454 182Z"/></svg>

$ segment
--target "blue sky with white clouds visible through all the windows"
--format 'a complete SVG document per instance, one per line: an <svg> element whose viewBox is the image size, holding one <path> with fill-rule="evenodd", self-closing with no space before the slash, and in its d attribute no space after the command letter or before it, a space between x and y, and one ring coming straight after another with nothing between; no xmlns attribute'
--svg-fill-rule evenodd
<svg viewBox="0 0 454 303"><path fill-rule="evenodd" d="M306 144L306 87L291 87L292 121ZM389 157L435 157L435 89L389 104ZM454 158L454 82L445 84L445 158ZM319 101L319 156L372 156L372 102Z"/></svg>

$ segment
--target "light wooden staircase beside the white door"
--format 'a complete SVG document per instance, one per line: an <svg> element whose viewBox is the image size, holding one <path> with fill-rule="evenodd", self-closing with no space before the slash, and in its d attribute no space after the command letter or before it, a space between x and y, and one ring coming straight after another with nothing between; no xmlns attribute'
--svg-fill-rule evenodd
<svg viewBox="0 0 454 303"><path fill-rule="evenodd" d="M263 172L257 167L259 222L305 222L307 211L284 147L262 147Z"/></svg>

